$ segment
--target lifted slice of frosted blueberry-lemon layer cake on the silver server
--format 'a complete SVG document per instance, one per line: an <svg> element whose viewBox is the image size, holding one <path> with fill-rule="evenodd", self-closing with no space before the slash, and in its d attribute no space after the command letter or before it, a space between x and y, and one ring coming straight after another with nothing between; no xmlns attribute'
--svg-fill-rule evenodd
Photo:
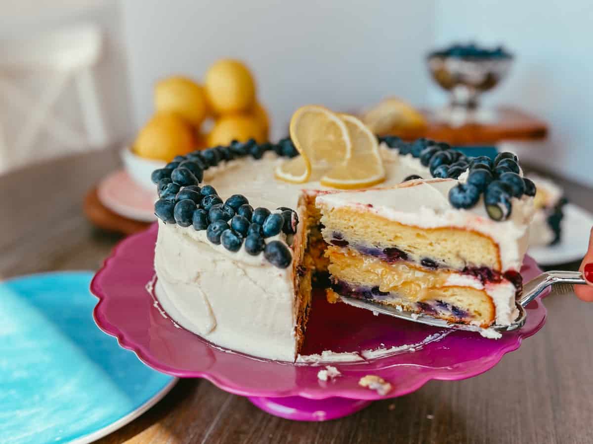
<svg viewBox="0 0 593 444"><path fill-rule="evenodd" d="M329 299L364 298L480 327L512 323L533 198L512 198L506 220L493 220L483 202L451 204L460 186L412 180L318 195Z"/></svg>

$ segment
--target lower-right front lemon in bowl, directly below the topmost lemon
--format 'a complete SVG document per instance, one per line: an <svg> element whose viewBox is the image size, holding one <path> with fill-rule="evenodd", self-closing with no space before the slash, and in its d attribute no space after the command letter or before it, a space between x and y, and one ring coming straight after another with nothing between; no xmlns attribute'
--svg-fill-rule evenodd
<svg viewBox="0 0 593 444"><path fill-rule="evenodd" d="M228 145L232 140L246 141L255 139L266 141L262 124L254 115L229 114L219 118L208 134L208 146Z"/></svg>

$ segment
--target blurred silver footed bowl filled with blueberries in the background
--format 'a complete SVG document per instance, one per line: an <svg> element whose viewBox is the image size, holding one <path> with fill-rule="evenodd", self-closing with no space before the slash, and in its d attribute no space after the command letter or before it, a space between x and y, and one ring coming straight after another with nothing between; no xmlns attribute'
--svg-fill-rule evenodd
<svg viewBox="0 0 593 444"><path fill-rule="evenodd" d="M473 110L479 95L508 74L513 56L502 46L490 49L470 43L433 51L426 61L435 82L450 92L451 107Z"/></svg>

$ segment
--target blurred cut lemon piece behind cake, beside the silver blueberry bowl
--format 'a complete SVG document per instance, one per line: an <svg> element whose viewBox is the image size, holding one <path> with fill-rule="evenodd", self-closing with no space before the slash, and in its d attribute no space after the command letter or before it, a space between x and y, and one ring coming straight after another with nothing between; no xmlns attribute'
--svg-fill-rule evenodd
<svg viewBox="0 0 593 444"><path fill-rule="evenodd" d="M383 99L362 115L362 121L374 134L414 130L426 126L425 117L412 105L395 97Z"/></svg>

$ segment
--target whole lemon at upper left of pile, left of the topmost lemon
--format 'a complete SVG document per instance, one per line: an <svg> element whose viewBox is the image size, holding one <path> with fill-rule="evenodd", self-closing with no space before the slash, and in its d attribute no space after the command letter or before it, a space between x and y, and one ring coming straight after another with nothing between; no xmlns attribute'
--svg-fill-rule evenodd
<svg viewBox="0 0 593 444"><path fill-rule="evenodd" d="M154 102L157 112L175 112L196 127L208 114L204 89L186 77L169 77L157 82Z"/></svg>

